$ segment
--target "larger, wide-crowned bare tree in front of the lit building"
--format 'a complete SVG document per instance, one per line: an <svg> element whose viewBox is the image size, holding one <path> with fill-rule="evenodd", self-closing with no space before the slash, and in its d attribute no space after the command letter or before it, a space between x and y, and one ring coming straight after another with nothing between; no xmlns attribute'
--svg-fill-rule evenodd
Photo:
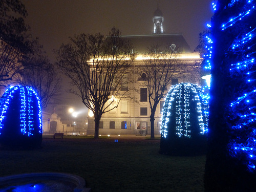
<svg viewBox="0 0 256 192"><path fill-rule="evenodd" d="M60 69L71 80L84 105L94 114L95 134L99 137L99 121L103 113L116 108L111 98L121 99L122 77L129 73L132 47L113 28L107 38L101 34L80 34L70 38L57 54ZM120 102L120 100L119 100ZM118 104L117 104L118 105Z"/></svg>

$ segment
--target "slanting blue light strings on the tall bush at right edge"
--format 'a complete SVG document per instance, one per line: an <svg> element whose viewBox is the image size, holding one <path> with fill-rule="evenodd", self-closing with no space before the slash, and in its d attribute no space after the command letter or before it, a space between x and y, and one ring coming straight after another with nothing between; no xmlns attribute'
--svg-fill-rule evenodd
<svg viewBox="0 0 256 192"><path fill-rule="evenodd" d="M234 13L220 29L237 33L229 49L225 52L233 60L230 63L230 77L239 85L234 86L233 99L230 102L230 131L234 139L228 144L229 154L234 158L247 159L249 170L256 165L256 79L255 79L255 1L233 0L225 9ZM239 13L239 12L240 13ZM252 23L252 25L251 25Z"/></svg>

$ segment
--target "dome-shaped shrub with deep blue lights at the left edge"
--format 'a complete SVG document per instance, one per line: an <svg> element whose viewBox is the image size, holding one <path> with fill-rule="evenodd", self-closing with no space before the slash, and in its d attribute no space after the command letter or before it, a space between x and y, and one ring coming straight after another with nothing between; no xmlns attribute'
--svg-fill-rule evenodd
<svg viewBox="0 0 256 192"><path fill-rule="evenodd" d="M36 148L41 145L40 101L31 87L15 86L1 98L0 144Z"/></svg>

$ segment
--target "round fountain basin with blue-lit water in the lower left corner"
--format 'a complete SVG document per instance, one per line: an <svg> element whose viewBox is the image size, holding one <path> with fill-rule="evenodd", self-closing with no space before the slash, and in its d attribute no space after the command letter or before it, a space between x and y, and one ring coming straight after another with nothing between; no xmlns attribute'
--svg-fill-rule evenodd
<svg viewBox="0 0 256 192"><path fill-rule="evenodd" d="M0 178L0 192L90 192L83 178L65 173L32 173Z"/></svg>

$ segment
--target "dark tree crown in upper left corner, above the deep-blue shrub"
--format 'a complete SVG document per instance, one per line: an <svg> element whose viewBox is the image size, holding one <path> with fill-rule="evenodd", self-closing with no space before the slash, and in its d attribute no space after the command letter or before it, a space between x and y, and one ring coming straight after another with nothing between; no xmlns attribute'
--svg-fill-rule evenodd
<svg viewBox="0 0 256 192"><path fill-rule="evenodd" d="M20 59L31 51L26 16L26 8L19 0L0 2L0 86L14 80L23 69Z"/></svg>

